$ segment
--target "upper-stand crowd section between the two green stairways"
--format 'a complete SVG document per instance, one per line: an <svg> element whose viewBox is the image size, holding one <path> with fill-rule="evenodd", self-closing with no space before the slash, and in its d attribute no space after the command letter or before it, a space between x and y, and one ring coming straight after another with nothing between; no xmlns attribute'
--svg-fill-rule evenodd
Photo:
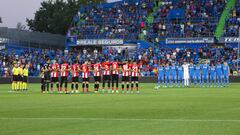
<svg viewBox="0 0 240 135"><path fill-rule="evenodd" d="M166 37L211 37L214 35L225 0L165 0L154 13L148 40ZM183 16L167 18L171 10L183 10Z"/></svg>

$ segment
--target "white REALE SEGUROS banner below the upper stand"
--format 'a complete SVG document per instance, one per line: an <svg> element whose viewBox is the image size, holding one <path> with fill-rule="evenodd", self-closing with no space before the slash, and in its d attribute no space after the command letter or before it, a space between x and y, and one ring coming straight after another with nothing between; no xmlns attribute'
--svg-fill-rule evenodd
<svg viewBox="0 0 240 135"><path fill-rule="evenodd" d="M122 45L122 39L78 39L77 45Z"/></svg>

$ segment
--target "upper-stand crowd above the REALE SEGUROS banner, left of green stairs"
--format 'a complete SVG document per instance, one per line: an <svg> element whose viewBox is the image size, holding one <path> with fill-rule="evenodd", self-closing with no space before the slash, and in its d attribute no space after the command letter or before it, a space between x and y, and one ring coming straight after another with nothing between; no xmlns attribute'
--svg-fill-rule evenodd
<svg viewBox="0 0 240 135"><path fill-rule="evenodd" d="M80 39L126 38L135 40L146 25L154 0L129 0L111 7L92 5L78 12L68 34Z"/></svg>

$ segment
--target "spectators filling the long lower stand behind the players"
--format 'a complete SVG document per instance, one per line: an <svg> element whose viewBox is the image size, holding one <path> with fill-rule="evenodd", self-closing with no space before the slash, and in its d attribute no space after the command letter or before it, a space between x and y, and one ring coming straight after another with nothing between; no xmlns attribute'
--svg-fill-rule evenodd
<svg viewBox="0 0 240 135"><path fill-rule="evenodd" d="M104 48L102 51L97 49L71 49L71 50L50 50L50 49L23 49L20 53L12 51L0 52L0 76L11 75L11 69L14 61L19 63L29 64L29 75L39 76L41 66L46 63L46 58L50 58L51 61L62 63L67 60L69 64L72 64L75 59L79 63L83 63L86 60L92 62L105 61L109 59L113 61L115 58L120 62L127 60L138 61L141 65L141 74L143 76L156 75L156 68L159 62L161 63L176 63L182 64L184 60L194 61L194 63L201 63L202 60L208 59L210 61L227 61L231 70L237 71L237 48L224 47L200 47L194 48L161 48L154 47L148 49L138 48ZM240 64L240 63L239 63Z"/></svg>

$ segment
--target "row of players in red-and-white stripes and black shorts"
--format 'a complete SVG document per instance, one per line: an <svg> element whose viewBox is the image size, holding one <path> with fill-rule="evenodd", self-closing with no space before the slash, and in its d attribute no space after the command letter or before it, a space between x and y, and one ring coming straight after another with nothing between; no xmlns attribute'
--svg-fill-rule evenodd
<svg viewBox="0 0 240 135"><path fill-rule="evenodd" d="M116 91L118 93L118 79L120 73L122 73L122 93L124 93L124 87L126 85L126 92L129 93L129 86L131 85L131 93L133 93L134 84L136 87L136 93L139 93L138 90L138 77L140 77L140 68L136 61L127 61L120 63L116 59L114 62L109 62L106 60L103 63L95 62L91 64L89 61L86 61L82 65L78 64L78 61L75 60L74 64L69 65L64 61L61 65L58 63L50 64L48 60L47 64L42 67L42 81L41 81L41 91L43 93L49 91L53 92L53 85L56 84L57 90L59 93L64 92L68 93L68 76L71 73L72 75L72 84L71 84L71 93L79 93L78 83L79 76L82 78L82 92L89 91L89 77L90 72L94 76L94 91L98 93L100 89L100 82L102 80L102 92L104 93L105 83L107 83L108 93L110 90L110 83L112 83L112 93ZM60 76L60 81L59 81ZM116 83L116 87L114 84ZM75 88L75 91L74 91ZM115 88L115 89L114 89Z"/></svg>

